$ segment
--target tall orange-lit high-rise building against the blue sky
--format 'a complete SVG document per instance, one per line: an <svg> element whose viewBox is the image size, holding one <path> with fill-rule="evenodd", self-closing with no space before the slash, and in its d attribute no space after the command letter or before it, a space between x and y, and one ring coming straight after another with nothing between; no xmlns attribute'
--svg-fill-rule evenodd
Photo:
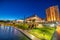
<svg viewBox="0 0 60 40"><path fill-rule="evenodd" d="M51 6L46 9L46 20L48 22L59 21L59 9L58 6Z"/></svg>

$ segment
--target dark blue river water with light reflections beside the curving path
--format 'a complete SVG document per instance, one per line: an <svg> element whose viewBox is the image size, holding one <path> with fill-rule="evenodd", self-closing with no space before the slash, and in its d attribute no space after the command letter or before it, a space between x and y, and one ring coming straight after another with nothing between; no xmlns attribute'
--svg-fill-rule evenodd
<svg viewBox="0 0 60 40"><path fill-rule="evenodd" d="M17 29L10 26L0 26L0 40L29 40Z"/></svg>

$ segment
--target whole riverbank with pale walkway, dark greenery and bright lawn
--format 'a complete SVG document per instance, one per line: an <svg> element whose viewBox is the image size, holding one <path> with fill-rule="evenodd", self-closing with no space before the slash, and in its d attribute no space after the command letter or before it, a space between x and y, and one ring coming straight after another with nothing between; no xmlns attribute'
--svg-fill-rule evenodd
<svg viewBox="0 0 60 40"><path fill-rule="evenodd" d="M27 24L4 24L5 26L12 26L19 30L21 33L23 33L25 36L27 36L30 40L40 40L42 39L47 39L50 40L54 31L55 27L48 27L44 26L42 28L33 28L33 29L27 29Z"/></svg>

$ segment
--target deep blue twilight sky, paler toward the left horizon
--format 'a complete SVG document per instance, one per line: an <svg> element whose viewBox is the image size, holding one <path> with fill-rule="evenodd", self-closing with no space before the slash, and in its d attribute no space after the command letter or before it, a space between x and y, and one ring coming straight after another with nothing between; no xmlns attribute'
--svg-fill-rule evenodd
<svg viewBox="0 0 60 40"><path fill-rule="evenodd" d="M0 0L0 20L24 19L34 13L41 18L46 17L45 10L58 5L59 0Z"/></svg>

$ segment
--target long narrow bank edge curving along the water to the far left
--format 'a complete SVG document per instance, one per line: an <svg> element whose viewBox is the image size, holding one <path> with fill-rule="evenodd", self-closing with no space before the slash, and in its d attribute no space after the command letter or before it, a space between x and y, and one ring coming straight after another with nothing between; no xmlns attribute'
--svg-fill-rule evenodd
<svg viewBox="0 0 60 40"><path fill-rule="evenodd" d="M40 40L40 39L38 39L37 37L33 36L32 34L28 33L27 30L20 29L20 28L18 28L18 27L15 26L15 25L9 25L9 24L1 24L1 25L14 27L14 28L17 29L18 31L20 31L22 34L24 34L27 38L29 38L30 40Z"/></svg>

